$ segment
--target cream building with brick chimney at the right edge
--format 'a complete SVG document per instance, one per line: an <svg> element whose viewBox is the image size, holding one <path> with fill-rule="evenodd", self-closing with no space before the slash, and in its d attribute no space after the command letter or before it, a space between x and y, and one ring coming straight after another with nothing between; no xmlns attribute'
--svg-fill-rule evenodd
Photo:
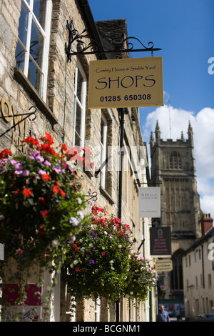
<svg viewBox="0 0 214 336"><path fill-rule="evenodd" d="M202 236L183 255L183 289L186 320L214 317L214 227L210 214L201 222Z"/></svg>

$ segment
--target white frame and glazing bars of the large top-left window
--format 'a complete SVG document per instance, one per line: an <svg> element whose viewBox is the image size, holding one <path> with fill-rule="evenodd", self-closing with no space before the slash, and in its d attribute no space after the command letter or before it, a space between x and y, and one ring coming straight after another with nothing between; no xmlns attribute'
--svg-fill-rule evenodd
<svg viewBox="0 0 214 336"><path fill-rule="evenodd" d="M21 40L18 38L19 44L25 51L24 57L24 75L28 78L28 71L29 71L29 60L34 63L37 69L39 69L41 73L41 82L39 85L39 95L41 98L46 102L46 94L47 94L47 81L48 81L48 66L49 66L49 45L50 45L50 34L51 34L51 12L52 12L52 0L46 0L46 17L45 17L45 26L44 29L39 24L38 19L33 12L34 8L34 0L29 0L29 4L26 0L21 0L21 2L26 7L26 10L29 12L29 19L28 19L28 26L27 26L27 37L26 37L26 46L22 44ZM31 44L31 27L32 27L32 20L36 26L38 27L39 31L41 32L42 36L44 37L44 48L43 48L43 55L41 61L41 68L38 66L36 61L30 56L30 44Z"/></svg>

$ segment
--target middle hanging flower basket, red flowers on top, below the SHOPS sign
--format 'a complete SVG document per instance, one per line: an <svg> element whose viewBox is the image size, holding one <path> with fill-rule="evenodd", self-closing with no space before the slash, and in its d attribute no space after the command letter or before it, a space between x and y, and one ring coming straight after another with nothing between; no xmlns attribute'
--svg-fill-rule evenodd
<svg viewBox="0 0 214 336"><path fill-rule="evenodd" d="M93 207L91 224L81 227L70 245L64 272L68 291L76 299L106 297L108 302L123 294L128 277L131 242L128 225Z"/></svg>

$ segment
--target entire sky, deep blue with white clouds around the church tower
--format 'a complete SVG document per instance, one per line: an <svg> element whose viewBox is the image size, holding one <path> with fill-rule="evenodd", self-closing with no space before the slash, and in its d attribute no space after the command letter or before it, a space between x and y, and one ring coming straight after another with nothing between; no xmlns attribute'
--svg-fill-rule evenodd
<svg viewBox="0 0 214 336"><path fill-rule="evenodd" d="M214 218L214 1L88 0L95 21L126 19L128 36L161 51L164 107L140 108L143 141L148 143L156 121L162 139L187 139L194 133L194 154L200 207ZM139 48L136 44L136 48ZM131 57L148 57L139 52ZM208 63L208 60L212 63ZM170 99L170 101L169 101ZM170 106L169 106L170 102Z"/></svg>

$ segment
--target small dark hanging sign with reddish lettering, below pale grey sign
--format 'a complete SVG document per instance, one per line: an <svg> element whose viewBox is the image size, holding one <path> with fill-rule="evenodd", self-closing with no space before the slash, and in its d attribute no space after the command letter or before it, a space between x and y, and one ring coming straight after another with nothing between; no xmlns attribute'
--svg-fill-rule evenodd
<svg viewBox="0 0 214 336"><path fill-rule="evenodd" d="M171 255L170 227L150 228L150 254L156 257Z"/></svg>

